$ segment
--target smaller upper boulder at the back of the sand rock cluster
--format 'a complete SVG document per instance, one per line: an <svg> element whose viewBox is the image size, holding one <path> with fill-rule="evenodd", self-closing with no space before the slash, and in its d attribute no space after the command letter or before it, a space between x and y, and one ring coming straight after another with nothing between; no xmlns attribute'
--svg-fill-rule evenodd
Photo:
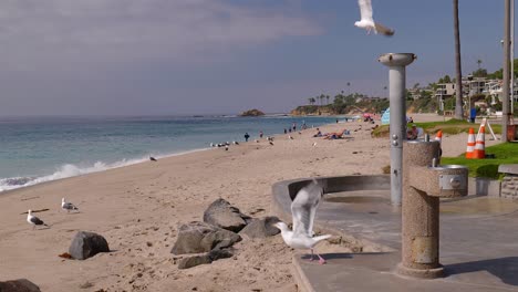
<svg viewBox="0 0 518 292"><path fill-rule="evenodd" d="M249 216L224 199L215 200L204 212L205 222L234 232L239 232L250 220Z"/></svg>

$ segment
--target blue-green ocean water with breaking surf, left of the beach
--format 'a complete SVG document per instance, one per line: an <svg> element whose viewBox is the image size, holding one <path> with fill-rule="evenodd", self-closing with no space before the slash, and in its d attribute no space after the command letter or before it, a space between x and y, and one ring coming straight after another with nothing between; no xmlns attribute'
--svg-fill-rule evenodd
<svg viewBox="0 0 518 292"><path fill-rule="evenodd" d="M0 191L283 133L335 117L9 117L0 118Z"/></svg>

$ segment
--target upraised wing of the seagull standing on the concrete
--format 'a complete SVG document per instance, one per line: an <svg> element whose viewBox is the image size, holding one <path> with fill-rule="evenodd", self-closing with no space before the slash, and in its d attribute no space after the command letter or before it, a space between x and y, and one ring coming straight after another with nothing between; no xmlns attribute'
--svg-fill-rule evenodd
<svg viewBox="0 0 518 292"><path fill-rule="evenodd" d="M313 236L314 215L322 199L322 194L323 189L317 180L311 181L297 194L291 202L294 236Z"/></svg>

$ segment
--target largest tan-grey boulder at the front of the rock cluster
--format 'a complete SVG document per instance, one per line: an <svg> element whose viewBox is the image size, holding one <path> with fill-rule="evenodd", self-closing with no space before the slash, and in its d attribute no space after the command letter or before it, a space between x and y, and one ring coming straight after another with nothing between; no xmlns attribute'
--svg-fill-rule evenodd
<svg viewBox="0 0 518 292"><path fill-rule="evenodd" d="M190 222L183 225L178 230L178 239L170 250L174 254L200 253L214 249L231 247L241 237L205 222Z"/></svg>

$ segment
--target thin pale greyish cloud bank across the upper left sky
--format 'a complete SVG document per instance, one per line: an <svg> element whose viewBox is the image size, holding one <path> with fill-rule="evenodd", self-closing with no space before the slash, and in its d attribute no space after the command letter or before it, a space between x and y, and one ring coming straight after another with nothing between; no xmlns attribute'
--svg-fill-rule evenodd
<svg viewBox="0 0 518 292"><path fill-rule="evenodd" d="M224 0L3 0L0 70L207 59L320 32L289 2L268 9Z"/></svg>

